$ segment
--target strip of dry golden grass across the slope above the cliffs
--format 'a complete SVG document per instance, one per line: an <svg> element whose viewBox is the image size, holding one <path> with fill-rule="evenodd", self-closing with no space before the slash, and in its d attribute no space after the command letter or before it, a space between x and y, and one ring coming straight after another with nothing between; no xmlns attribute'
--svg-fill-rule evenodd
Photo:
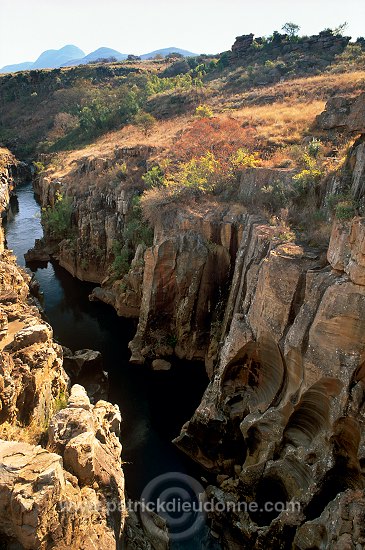
<svg viewBox="0 0 365 550"><path fill-rule="evenodd" d="M293 104L274 103L268 105L253 105L234 111L233 120L242 126L242 143L249 149L263 150L269 146L281 147L286 144L300 143L306 135L309 126L315 117L323 111L324 102ZM216 123L225 126L226 114L218 114ZM58 153L51 168L53 178L63 178L75 167L81 159L110 157L117 147L133 148L149 146L156 148L151 158L163 158L170 152L175 156L180 148L180 139L183 132L190 131L196 126L197 120L193 117L178 117L172 120L158 122L150 134L145 136L136 126L128 125L116 132L109 132L82 149L72 152ZM200 149L207 136L193 135L191 145ZM214 137L214 135L213 135ZM217 132L217 139L222 135ZM228 139L228 138L227 138ZM245 143L247 141L247 143ZM201 143L200 143L201 142ZM201 147L199 147L199 145ZM214 145L214 144L213 144ZM212 144L210 144L211 148ZM175 149L175 151L173 151ZM194 148L192 149L194 150ZM203 154L204 152L201 151Z"/></svg>

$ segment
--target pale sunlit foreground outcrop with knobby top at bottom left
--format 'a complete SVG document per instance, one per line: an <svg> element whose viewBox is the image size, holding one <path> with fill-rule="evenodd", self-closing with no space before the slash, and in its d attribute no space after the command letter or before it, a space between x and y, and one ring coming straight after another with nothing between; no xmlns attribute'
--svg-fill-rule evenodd
<svg viewBox="0 0 365 550"><path fill-rule="evenodd" d="M0 536L22 548L120 547L124 478L120 414L73 386L49 427L49 449L0 440Z"/></svg>

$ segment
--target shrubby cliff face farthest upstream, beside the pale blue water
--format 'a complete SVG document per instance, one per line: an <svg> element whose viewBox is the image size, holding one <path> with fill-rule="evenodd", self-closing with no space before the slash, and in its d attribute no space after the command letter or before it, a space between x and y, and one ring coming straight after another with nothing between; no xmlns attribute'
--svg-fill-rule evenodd
<svg viewBox="0 0 365 550"><path fill-rule="evenodd" d="M113 246L121 240L132 199L141 188L141 175L146 170L152 151L141 147L116 149L111 158L84 158L68 177L53 178L47 174L35 179L34 189L44 207L53 205L57 193L73 201L74 234L60 243L57 256L62 267L82 281L101 283L110 275ZM120 168L130 166L128 181ZM110 285L109 285L110 287ZM138 292L137 292L138 293ZM116 304L116 297L111 298ZM131 289L130 294L133 294ZM123 315L130 307L138 316L138 303L132 295L131 305L122 306ZM128 304L128 299L124 300Z"/></svg>

